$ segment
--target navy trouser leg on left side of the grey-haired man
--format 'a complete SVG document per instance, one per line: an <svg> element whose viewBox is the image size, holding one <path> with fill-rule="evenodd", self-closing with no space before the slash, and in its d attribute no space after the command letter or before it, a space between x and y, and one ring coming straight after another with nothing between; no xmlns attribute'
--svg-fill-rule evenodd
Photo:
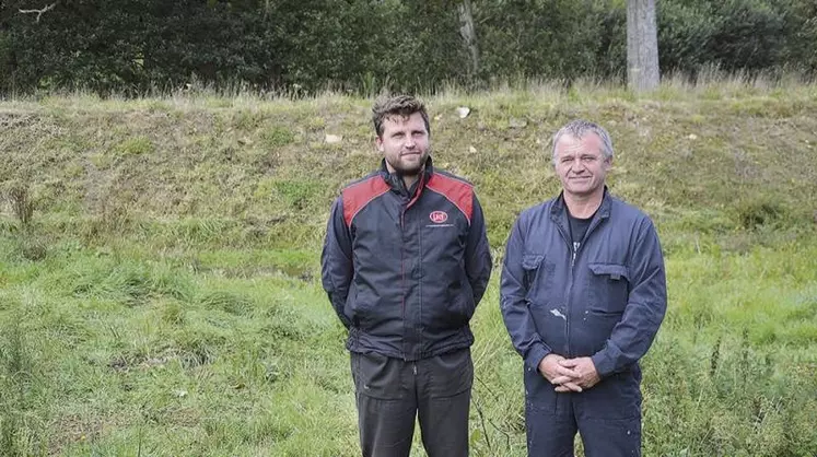
<svg viewBox="0 0 817 457"><path fill-rule="evenodd" d="M553 385L525 366L525 430L528 457L573 457L575 394L553 391Z"/></svg>

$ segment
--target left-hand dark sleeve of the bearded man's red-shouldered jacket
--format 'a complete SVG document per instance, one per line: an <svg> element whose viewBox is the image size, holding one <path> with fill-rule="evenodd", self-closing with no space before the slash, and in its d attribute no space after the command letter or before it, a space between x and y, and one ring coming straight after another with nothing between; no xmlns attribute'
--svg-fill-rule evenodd
<svg viewBox="0 0 817 457"><path fill-rule="evenodd" d="M320 254L320 270L324 290L329 295L335 313L346 328L351 323L343 314L349 285L354 272L352 267L352 237L343 219L343 200L339 197L331 207L326 226L324 250Z"/></svg>

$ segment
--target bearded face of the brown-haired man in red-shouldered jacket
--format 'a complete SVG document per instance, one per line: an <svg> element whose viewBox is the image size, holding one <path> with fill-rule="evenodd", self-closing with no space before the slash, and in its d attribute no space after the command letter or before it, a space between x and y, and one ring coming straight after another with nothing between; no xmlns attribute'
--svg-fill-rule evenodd
<svg viewBox="0 0 817 457"><path fill-rule="evenodd" d="M429 131L420 113L383 120L383 134L375 139L377 150L386 157L390 173L413 176L420 173L429 156Z"/></svg>

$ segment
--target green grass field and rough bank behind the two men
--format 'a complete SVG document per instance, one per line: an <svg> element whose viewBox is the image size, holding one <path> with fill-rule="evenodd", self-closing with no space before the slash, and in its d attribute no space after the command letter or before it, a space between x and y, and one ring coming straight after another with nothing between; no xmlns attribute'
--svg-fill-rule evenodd
<svg viewBox="0 0 817 457"><path fill-rule="evenodd" d="M435 163L476 184L498 263L515 215L558 191L550 134L575 117L610 130L610 188L667 259L644 455L817 455L817 86L427 102ZM0 102L0 455L358 455L318 256L338 189L377 166L371 103ZM498 279L472 324L472 455L523 456Z"/></svg>

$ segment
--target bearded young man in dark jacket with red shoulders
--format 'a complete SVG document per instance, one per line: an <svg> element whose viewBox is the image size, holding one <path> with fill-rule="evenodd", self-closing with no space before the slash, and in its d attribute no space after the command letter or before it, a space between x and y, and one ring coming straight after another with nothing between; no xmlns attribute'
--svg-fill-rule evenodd
<svg viewBox="0 0 817 457"><path fill-rule="evenodd" d="M491 272L467 181L432 165L429 116L410 96L373 108L381 168L331 207L323 284L349 330L364 456L408 456L419 414L431 457L468 455L468 321Z"/></svg>

